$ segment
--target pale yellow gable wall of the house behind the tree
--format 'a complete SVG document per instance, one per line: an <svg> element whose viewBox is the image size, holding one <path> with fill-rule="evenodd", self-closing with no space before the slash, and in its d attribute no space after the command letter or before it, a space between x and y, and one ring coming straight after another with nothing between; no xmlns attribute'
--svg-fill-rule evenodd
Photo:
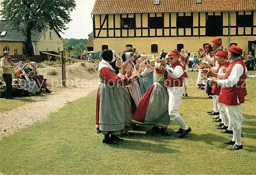
<svg viewBox="0 0 256 175"><path fill-rule="evenodd" d="M61 38L54 30L46 29L42 33L38 42L32 42L35 55L40 55L40 52L58 52L63 51L63 43Z"/></svg>

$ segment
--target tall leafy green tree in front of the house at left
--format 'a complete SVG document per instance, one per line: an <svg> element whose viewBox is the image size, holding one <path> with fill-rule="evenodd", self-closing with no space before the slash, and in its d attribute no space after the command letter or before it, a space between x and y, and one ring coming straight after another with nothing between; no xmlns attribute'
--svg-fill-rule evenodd
<svg viewBox="0 0 256 175"><path fill-rule="evenodd" d="M75 6L74 0L4 0L1 14L14 29L23 31L27 38L25 52L32 56L31 32L42 32L46 27L57 32L67 30Z"/></svg>

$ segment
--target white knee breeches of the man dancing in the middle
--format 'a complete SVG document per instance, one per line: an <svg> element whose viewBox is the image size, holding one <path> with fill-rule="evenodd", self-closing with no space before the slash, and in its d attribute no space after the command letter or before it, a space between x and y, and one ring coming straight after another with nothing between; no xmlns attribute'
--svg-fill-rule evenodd
<svg viewBox="0 0 256 175"><path fill-rule="evenodd" d="M175 120L180 116L178 109L180 108L180 102L182 98L183 87L168 87L167 92L169 95L168 111L169 116Z"/></svg>

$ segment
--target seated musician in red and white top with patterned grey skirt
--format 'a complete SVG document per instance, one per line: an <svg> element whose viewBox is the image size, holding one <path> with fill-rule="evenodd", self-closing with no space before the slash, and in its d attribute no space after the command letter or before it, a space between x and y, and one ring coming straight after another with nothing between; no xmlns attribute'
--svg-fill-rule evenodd
<svg viewBox="0 0 256 175"><path fill-rule="evenodd" d="M24 71L22 70L24 65L24 62L19 65L20 68L16 73L16 79L18 79L18 83L22 86L24 90L28 91L29 93L35 94L36 92L40 91L40 88L32 77L28 77L28 74L26 72L30 72L30 70L28 68L24 68Z"/></svg>

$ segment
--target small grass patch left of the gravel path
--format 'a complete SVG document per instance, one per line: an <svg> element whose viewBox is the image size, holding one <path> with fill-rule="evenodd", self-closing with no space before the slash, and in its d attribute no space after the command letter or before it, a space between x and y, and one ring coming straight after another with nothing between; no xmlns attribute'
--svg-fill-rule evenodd
<svg viewBox="0 0 256 175"><path fill-rule="evenodd" d="M5 99L0 98L0 112L10 111L17 107L24 105L25 103L35 102L34 99L30 97L20 97L19 99Z"/></svg>

